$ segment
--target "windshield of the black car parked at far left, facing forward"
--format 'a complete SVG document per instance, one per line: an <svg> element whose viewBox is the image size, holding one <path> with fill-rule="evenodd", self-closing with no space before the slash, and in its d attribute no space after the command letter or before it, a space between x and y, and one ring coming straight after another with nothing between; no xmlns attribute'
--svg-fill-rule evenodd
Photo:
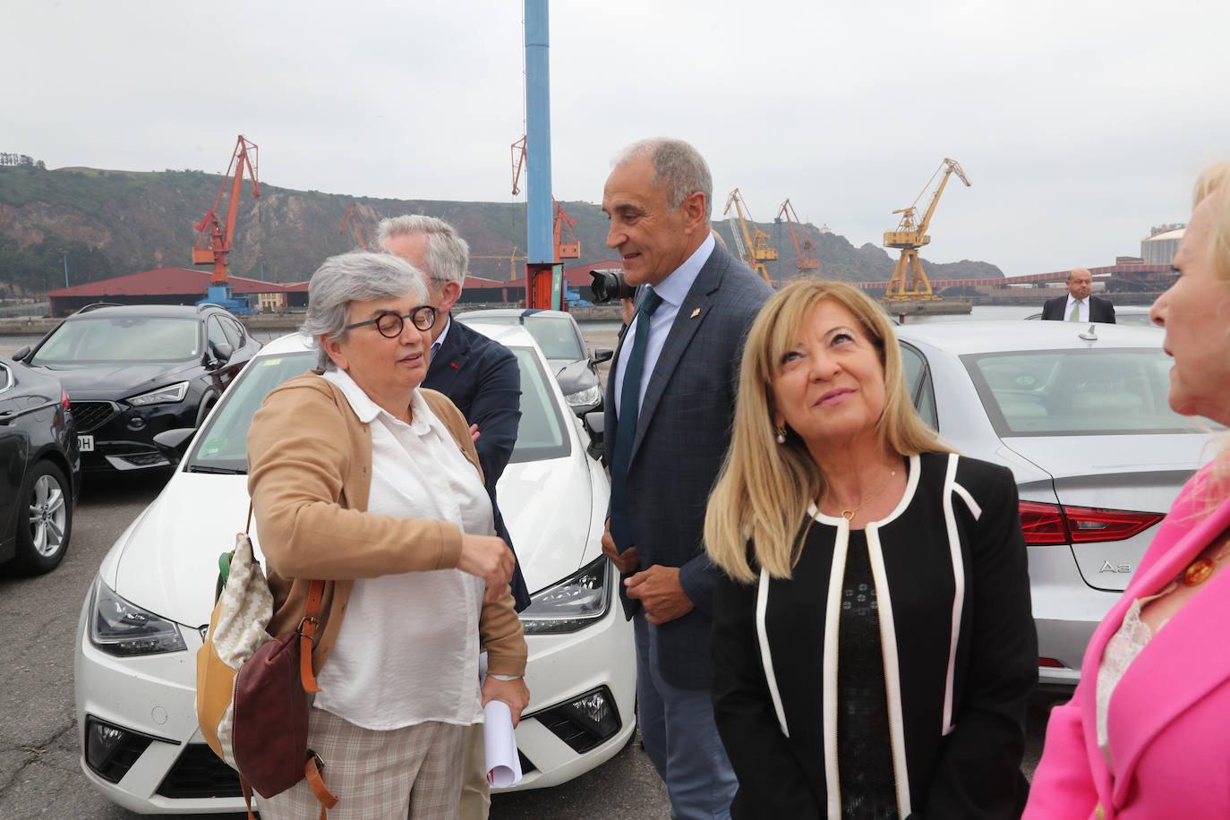
<svg viewBox="0 0 1230 820"><path fill-rule="evenodd" d="M200 325L165 316L97 316L63 322L30 364L187 361L200 355Z"/></svg>

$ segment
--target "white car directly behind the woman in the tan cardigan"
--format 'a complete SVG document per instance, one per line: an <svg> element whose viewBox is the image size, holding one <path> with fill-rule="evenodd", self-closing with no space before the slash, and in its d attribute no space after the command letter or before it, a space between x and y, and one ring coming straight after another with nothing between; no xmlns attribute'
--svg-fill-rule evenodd
<svg viewBox="0 0 1230 820"><path fill-rule="evenodd" d="M636 654L617 574L601 554L609 482L585 452L581 420L523 328L475 327L510 348L522 373L520 428L498 489L534 590L520 616L530 704L517 728L524 778L514 788L540 788L592 770L631 738ZM314 363L299 334L261 349L166 488L103 558L86 595L74 659L81 767L133 811L244 810L237 776L197 727L196 654L214 605L218 558L247 515L252 414L269 390ZM171 433L164 445L175 445Z"/></svg>

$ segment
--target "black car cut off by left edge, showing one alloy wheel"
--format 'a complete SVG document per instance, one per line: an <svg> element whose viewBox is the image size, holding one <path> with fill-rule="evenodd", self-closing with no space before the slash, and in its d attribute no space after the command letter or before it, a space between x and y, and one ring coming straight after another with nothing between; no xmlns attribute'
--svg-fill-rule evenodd
<svg viewBox="0 0 1230 820"><path fill-rule="evenodd" d="M31 574L59 564L80 484L68 393L55 376L0 357L0 563Z"/></svg>

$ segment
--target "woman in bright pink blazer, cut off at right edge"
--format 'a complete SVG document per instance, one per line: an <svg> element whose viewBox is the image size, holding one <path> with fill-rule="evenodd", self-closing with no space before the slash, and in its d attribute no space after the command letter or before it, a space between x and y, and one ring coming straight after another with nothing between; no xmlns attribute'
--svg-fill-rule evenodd
<svg viewBox="0 0 1230 820"><path fill-rule="evenodd" d="M1230 425L1230 162L1200 176L1153 306L1170 406ZM1025 820L1230 818L1230 445L1183 488L1050 713Z"/></svg>

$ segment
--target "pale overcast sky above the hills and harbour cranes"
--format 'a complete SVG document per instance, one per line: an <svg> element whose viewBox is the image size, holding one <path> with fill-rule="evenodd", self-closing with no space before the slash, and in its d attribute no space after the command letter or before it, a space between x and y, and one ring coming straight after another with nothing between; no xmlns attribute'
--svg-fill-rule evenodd
<svg viewBox="0 0 1230 820"><path fill-rule="evenodd" d="M611 156L696 145L715 218L879 243L943 157L924 251L1009 275L1111 264L1186 221L1230 159L1230 2L552 2L554 193L601 202ZM50 168L221 172L399 199L510 195L524 133L519 0L10 4L0 151ZM920 200L926 207L930 192ZM733 213L733 211L732 211ZM598 250L584 256L601 258ZM894 252L895 256L895 252Z"/></svg>

